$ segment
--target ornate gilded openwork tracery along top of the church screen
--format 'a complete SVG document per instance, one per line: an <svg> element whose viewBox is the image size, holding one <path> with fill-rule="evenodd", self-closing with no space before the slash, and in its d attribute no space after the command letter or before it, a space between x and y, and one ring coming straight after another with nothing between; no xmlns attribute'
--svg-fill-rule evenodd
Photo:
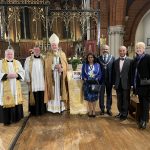
<svg viewBox="0 0 150 150"><path fill-rule="evenodd" d="M91 20L94 20L93 22L98 24L99 10L94 10L90 7L85 8L82 6L81 2L77 2L75 0L63 0L60 2L54 0L7 0L7 2L3 1L0 2L0 4L5 4L5 12L8 12L8 16L3 16L3 24L7 26L7 31L9 31L12 22L16 23L20 20L21 9L27 7L29 9L29 12L31 12L32 14L32 21L35 22L35 31L37 32L38 22L41 22L44 26L44 30L46 31L47 39L48 32L52 31L52 27L55 22L54 20L57 19L64 22L67 32L69 32L70 24L74 22L74 20L79 22L82 31L81 37L83 38L87 30L89 30L87 29L87 20L90 20L89 22L91 22ZM56 7L54 7L54 5ZM3 9L2 7L3 6L0 6L0 9ZM6 33L7 31L4 32ZM73 32L70 32L72 34L72 37L74 37ZM16 35L18 39L20 39L20 33L16 33ZM38 39L37 36L37 33L33 33L34 39Z"/></svg>

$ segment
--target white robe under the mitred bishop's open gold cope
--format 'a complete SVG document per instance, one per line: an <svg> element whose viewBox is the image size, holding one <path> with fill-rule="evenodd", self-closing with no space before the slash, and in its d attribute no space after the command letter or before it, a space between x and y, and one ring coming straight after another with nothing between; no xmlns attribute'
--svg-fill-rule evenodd
<svg viewBox="0 0 150 150"><path fill-rule="evenodd" d="M55 69L55 65L60 63L59 57L53 58L53 79L54 79L54 100L48 101L48 107L47 110L53 113L61 113L65 110L64 102L61 101L61 95L60 95L60 77L61 73L58 72L57 69Z"/></svg>

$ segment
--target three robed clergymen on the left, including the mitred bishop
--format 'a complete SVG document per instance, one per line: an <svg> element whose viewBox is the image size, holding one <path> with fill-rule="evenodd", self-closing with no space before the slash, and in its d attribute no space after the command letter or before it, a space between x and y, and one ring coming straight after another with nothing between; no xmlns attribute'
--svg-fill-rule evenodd
<svg viewBox="0 0 150 150"><path fill-rule="evenodd" d="M59 38L52 34L51 49L45 57L39 47L26 58L24 68L14 59L14 50L5 51L0 60L0 122L9 125L23 118L23 96L21 82L25 81L29 91L31 115L42 115L46 111L61 113L67 108L67 68L65 53L59 49Z"/></svg>

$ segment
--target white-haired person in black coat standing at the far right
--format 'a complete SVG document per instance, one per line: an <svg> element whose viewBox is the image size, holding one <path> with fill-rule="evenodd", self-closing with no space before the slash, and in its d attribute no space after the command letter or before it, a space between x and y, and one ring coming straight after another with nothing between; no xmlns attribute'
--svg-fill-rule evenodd
<svg viewBox="0 0 150 150"><path fill-rule="evenodd" d="M138 94L140 102L139 128L146 128L149 119L150 102L150 55L145 54L145 43L138 42L135 45L136 57L133 61L133 76L135 94Z"/></svg>

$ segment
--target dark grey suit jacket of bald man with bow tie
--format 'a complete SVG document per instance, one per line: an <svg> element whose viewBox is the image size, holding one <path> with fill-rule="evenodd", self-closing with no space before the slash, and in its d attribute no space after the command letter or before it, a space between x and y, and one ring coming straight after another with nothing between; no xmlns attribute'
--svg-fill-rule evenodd
<svg viewBox="0 0 150 150"><path fill-rule="evenodd" d="M121 72L120 72L120 58L118 58L114 62L113 80L115 84L115 89L119 88L119 84L121 84L124 90L131 88L131 75L132 75L131 69L132 69L132 60L128 57L126 57L124 60Z"/></svg>

